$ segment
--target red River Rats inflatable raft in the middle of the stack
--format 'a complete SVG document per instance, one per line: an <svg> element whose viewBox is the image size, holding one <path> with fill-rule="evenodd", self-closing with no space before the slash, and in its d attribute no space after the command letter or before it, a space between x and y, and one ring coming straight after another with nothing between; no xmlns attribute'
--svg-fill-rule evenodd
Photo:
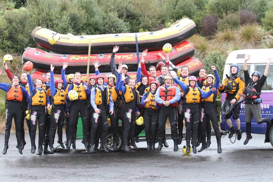
<svg viewBox="0 0 273 182"><path fill-rule="evenodd" d="M147 63L147 68L151 65L156 65L162 59L157 55L157 53L162 53L160 51L149 51L148 55L145 57ZM171 52L169 53L169 59L174 64L177 65L187 59L190 59L194 54L194 47L188 41L184 41L177 46L174 46ZM165 53L163 53L165 55ZM98 60L100 61L100 72L111 72L109 65L111 58L110 54L92 54L90 56L90 72L95 72L93 62ZM141 60L141 55L140 58ZM48 53L36 48L26 48L22 55L22 63L31 61L33 63L33 68L37 70L49 71L50 64L52 63L55 66L54 71L56 73L61 73L63 68L63 62L68 62L69 65L66 69L66 73L75 73L86 72L88 55L68 55L68 54L57 54L57 53ZM129 71L137 71L137 53L116 53L115 54L115 63L118 64L118 61L122 61L123 64L128 66Z"/></svg>

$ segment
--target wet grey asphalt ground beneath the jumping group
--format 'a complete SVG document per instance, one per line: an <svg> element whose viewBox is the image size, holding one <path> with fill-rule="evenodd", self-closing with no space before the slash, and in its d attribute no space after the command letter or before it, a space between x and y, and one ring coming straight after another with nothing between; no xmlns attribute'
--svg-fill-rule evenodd
<svg viewBox="0 0 273 182"><path fill-rule="evenodd" d="M212 136L209 148L190 155L182 153L185 140L177 152L173 151L173 141L167 140L169 147L160 152L147 152L146 142L139 142L140 149L133 153L97 154L82 154L84 146L77 140L76 150L58 149L55 154L39 156L30 153L29 137L20 155L15 133L11 133L9 149L3 155L2 133L0 181L273 181L273 147L264 143L264 135L252 136L247 145L243 145L245 133L234 144L228 136L222 138L222 154L217 153L216 138Z"/></svg>

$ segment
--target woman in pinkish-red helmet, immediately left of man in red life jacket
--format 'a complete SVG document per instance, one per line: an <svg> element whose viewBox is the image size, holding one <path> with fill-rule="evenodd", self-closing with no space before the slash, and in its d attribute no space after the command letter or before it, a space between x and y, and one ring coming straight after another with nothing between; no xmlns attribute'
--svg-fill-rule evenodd
<svg viewBox="0 0 273 182"><path fill-rule="evenodd" d="M151 81L150 91L145 92L141 105L144 107L143 120L145 126L145 137L147 141L147 151L155 150L155 141L156 141L156 127L157 127L157 116L160 106L155 101L156 89L158 87L158 82Z"/></svg>

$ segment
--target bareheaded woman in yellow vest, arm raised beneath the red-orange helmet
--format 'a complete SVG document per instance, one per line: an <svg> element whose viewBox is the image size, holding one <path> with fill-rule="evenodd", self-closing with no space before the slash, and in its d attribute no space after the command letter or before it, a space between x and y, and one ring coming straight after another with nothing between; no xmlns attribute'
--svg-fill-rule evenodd
<svg viewBox="0 0 273 182"><path fill-rule="evenodd" d="M30 152L34 154L36 150L36 145L35 145L36 129L37 129L37 124L39 124L38 125L39 142L38 142L37 154L41 155L43 152L42 144L45 137L45 133L44 133L45 119L46 119L45 110L50 108L50 100L46 94L46 90L42 89L43 80L41 78L38 78L35 81L36 88L34 88L29 72L27 72L26 75L28 77L28 84L29 84L30 97L31 97L31 103L30 103L31 150Z"/></svg>

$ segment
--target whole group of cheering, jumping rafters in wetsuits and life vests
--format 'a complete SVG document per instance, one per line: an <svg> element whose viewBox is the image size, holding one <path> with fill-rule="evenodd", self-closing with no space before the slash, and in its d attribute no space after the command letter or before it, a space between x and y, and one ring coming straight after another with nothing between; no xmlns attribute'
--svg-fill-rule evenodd
<svg viewBox="0 0 273 182"><path fill-rule="evenodd" d="M36 129L38 125L39 140L37 154L53 154L54 138L57 131L57 142L62 148L63 125L66 121L66 148L75 149L78 116L82 119L83 140L86 151L90 154L98 150L99 141L101 148L109 152L106 147L108 130L107 115L111 122L113 131L113 150L118 146L118 121L122 120L123 143L122 150L133 152L132 146L138 149L139 133L145 128L147 151L160 151L162 147L168 147L166 141L165 125L169 119L171 127L171 138L174 142L174 151L178 151L178 145L183 139L183 121L185 122L186 148L189 154L191 150L197 153L197 147L202 144L198 152L202 152L211 144L211 123L216 135L217 152L222 153L221 134L218 125L218 113L216 108L216 97L219 93L226 93L226 100L222 106L222 113L231 131L229 138L234 133L238 140L242 137L239 120L240 102L243 96L245 102L245 115L247 126L247 137L244 144L252 138L251 123L254 115L257 123L266 122L268 132L271 126L268 117L261 118L259 102L254 102L260 96L261 88L268 74L271 58L266 61L267 66L264 74L252 73L251 78L247 70L245 57L244 75L245 79L238 74L239 65L230 66L231 75L222 84L216 67L211 66L213 74L207 74L207 70L200 69L199 76L189 75L190 69L187 65L181 68L181 75L173 77L169 73L168 54L166 59L162 54L162 62L157 67L150 66L149 73L145 67L145 56L147 49L143 51L141 61L138 64L137 76L131 78L127 72L128 67L119 62L115 63L115 53L118 46L113 48L110 59L111 74L107 75L107 83L99 71L99 61L95 61L96 76L90 76L90 87L81 79L81 74L69 74L65 77L65 69L68 63L63 64L61 78L54 80L54 66L51 64L50 72L46 73L46 82L36 79L33 83L30 74L23 73L21 80L19 75L12 75L5 65L5 71L12 84L0 83L0 89L7 92L6 104L6 130L5 146L3 154L7 153L12 119L15 121L17 148L20 154L26 145L24 132L24 119L28 126L31 140L31 153L35 153ZM0 71L0 74L2 71ZM244 82L245 80L245 82ZM246 83L246 84L245 84ZM35 86L34 86L35 84ZM228 109L227 109L228 108ZM21 111L21 112L18 112ZM144 125L136 125L136 117L142 116ZM236 122L237 130L232 126L230 117ZM211 122L211 123L210 123ZM155 148L156 140L158 147ZM42 145L44 144L44 149ZM192 148L191 148L192 145ZM48 150L48 146L49 149Z"/></svg>

